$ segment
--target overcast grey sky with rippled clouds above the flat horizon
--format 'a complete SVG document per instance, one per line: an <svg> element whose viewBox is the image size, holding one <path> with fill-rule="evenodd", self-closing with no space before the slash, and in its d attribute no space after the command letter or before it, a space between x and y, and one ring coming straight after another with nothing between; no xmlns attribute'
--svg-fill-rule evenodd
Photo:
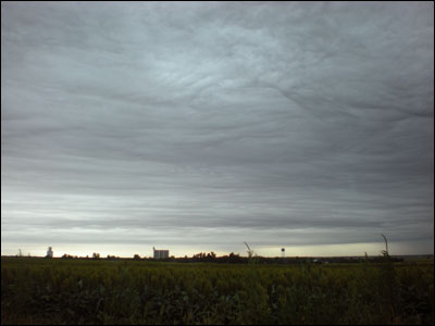
<svg viewBox="0 0 435 326"><path fill-rule="evenodd" d="M1 2L1 254L433 253L432 2Z"/></svg>

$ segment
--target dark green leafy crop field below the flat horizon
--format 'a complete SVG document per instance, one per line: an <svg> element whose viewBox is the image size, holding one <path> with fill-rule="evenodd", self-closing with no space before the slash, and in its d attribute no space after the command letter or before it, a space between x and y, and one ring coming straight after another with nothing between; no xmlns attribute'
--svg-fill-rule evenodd
<svg viewBox="0 0 435 326"><path fill-rule="evenodd" d="M2 258L1 323L433 325L433 267Z"/></svg>

